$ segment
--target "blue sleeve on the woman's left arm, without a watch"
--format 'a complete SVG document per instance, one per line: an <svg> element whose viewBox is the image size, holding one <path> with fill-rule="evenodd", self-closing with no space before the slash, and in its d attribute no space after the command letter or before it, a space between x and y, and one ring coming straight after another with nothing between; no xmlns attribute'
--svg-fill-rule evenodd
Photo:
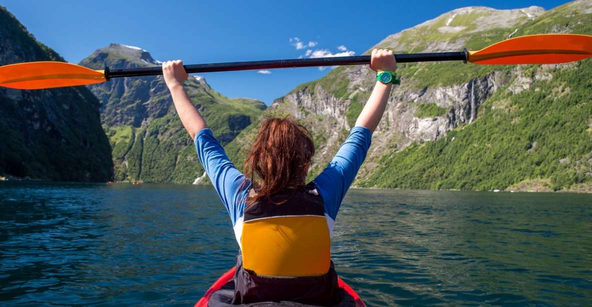
<svg viewBox="0 0 592 307"><path fill-rule="evenodd" d="M244 200L250 188L250 182L241 189L245 177L230 162L224 148L214 138L212 130L205 128L197 132L195 149L234 226L243 215Z"/></svg>

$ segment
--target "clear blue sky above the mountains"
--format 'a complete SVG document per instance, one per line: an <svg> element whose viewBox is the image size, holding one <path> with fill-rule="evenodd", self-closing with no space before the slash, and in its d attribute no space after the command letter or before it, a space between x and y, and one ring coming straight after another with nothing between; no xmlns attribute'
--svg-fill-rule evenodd
<svg viewBox="0 0 592 307"><path fill-rule="evenodd" d="M565 2L2 0L0 5L72 63L98 48L120 43L146 49L156 60L180 58L186 64L200 64L297 58L309 49L317 54L359 55L390 34L455 8L538 5L551 9ZM294 38L306 47L297 49ZM237 71L203 76L226 96L270 104L327 71L296 68L271 70L271 74Z"/></svg>

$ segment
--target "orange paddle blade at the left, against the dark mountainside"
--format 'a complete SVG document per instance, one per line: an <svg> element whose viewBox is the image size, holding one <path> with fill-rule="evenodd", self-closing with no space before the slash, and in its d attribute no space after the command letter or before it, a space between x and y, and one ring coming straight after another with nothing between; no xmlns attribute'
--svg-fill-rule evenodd
<svg viewBox="0 0 592 307"><path fill-rule="evenodd" d="M0 67L0 86L20 90L51 89L105 81L102 70L63 62L30 62Z"/></svg>

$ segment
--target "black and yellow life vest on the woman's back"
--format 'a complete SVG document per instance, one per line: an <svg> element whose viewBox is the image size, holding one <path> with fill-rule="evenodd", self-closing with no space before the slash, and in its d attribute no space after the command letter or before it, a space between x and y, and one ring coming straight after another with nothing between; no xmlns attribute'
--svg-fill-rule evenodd
<svg viewBox="0 0 592 307"><path fill-rule="evenodd" d="M240 239L244 269L278 277L321 276L329 271L329 227L323 199L313 191L312 184L288 189L244 210Z"/></svg>

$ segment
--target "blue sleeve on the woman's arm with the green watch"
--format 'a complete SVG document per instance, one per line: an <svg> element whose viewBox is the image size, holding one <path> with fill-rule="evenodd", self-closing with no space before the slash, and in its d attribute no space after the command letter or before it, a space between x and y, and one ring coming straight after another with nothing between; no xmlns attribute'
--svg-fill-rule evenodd
<svg viewBox="0 0 592 307"><path fill-rule="evenodd" d="M343 197L366 158L371 139L372 132L368 128L352 128L333 160L314 179L317 191L323 197L325 213L333 220L337 217Z"/></svg>

